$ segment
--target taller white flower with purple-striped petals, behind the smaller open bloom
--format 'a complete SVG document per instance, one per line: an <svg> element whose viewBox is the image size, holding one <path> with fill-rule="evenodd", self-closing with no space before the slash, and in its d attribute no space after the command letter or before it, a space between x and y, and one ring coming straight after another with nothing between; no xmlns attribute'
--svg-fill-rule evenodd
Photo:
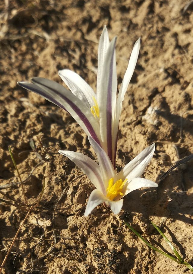
<svg viewBox="0 0 193 274"><path fill-rule="evenodd" d="M86 134L106 151L114 167L122 102L138 59L140 39L134 44L118 96L115 42L116 37L109 42L105 26L99 41L96 93L78 74L68 69L60 70L59 76L71 92L45 78L35 77L31 79L32 83L18 82L68 111Z"/></svg>

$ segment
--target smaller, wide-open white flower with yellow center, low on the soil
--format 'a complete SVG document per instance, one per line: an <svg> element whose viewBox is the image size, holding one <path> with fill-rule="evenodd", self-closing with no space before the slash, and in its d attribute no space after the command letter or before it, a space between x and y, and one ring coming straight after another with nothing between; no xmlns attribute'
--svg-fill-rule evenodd
<svg viewBox="0 0 193 274"><path fill-rule="evenodd" d="M103 148L92 137L88 138L96 153L99 165L84 154L59 150L59 153L73 161L96 187L90 194L84 216L88 216L97 205L104 202L114 214L118 214L123 205L122 198L125 195L141 187L158 186L155 182L140 178L153 156L155 144L144 149L116 174L112 162Z"/></svg>

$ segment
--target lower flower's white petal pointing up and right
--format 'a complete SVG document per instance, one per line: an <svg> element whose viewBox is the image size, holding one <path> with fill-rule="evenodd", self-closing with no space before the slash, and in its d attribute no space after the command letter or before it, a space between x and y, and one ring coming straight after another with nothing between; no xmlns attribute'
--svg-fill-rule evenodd
<svg viewBox="0 0 193 274"><path fill-rule="evenodd" d="M153 153L155 151L155 143L146 147L141 153L138 154L131 162L129 162L117 175L118 178L128 178L128 182L132 179L140 177L147 165L149 164Z"/></svg>

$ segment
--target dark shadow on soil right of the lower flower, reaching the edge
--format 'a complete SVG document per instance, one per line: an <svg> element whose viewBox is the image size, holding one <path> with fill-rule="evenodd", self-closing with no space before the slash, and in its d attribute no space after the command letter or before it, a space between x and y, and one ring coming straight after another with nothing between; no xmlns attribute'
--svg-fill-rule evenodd
<svg viewBox="0 0 193 274"><path fill-rule="evenodd" d="M177 173L178 174L178 173ZM177 180L178 176L174 176ZM142 218L149 220L149 216L169 217L182 222L192 224L192 200L193 194L180 191L178 182L172 181L172 174L164 179L156 190L135 190L124 198L123 209L131 212L130 218L135 213L141 213ZM169 198L171 200L169 200Z"/></svg>

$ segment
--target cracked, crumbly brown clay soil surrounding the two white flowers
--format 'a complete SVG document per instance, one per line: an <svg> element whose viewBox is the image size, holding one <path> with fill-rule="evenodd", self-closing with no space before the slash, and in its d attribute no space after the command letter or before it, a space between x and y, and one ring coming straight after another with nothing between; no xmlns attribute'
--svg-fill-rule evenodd
<svg viewBox="0 0 193 274"><path fill-rule="evenodd" d="M22 180L36 167L24 182L29 205L46 178L40 204L21 228L2 273L78 273L75 265L85 274L190 273L150 250L123 220L170 253L150 221L163 223L163 232L192 264L192 161L174 169L157 189L131 192L119 215L99 205L84 217L94 186L58 150L96 159L86 134L68 113L17 85L35 76L63 84L58 70L68 68L96 90L98 41L106 25L110 39L117 35L120 86L134 42L141 37L122 108L116 166L119 171L155 142L144 177L156 181L173 163L193 153L193 11L191 5L183 11L185 4L178 0L1 1L0 190L24 203L21 186L13 184L19 179L8 146ZM36 149L30 147L31 138ZM11 201L2 194L1 198ZM0 212L2 263L27 211L1 201Z"/></svg>

